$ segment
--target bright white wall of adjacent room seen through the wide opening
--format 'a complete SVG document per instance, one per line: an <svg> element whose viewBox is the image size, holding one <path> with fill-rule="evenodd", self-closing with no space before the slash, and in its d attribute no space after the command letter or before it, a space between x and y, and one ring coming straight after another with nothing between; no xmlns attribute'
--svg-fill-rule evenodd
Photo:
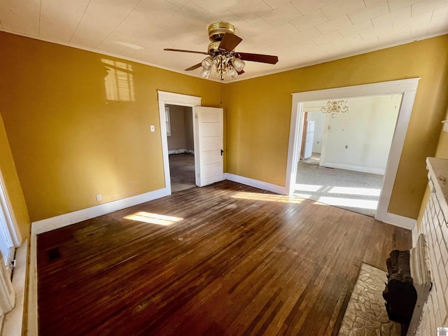
<svg viewBox="0 0 448 336"><path fill-rule="evenodd" d="M316 121L313 152L321 153L321 165L384 174L401 99L401 94L347 99L349 112L335 118L316 111L326 101L305 103L307 120Z"/></svg>

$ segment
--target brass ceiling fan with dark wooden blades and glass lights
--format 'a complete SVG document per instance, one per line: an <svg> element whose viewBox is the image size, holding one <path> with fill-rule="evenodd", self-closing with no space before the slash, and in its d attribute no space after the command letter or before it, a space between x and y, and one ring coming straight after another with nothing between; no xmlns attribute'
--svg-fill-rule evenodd
<svg viewBox="0 0 448 336"><path fill-rule="evenodd" d="M235 47L239 45L242 38L235 35L235 26L228 22L214 22L209 25L209 51L192 51L181 49L164 49L167 51L193 52L195 54L209 55L202 62L190 66L186 71L195 70L202 66L201 76L209 78L211 69L216 67L216 73L221 80L227 74L235 78L244 73L244 61L276 64L279 57L271 55L251 54L248 52L236 52Z"/></svg>

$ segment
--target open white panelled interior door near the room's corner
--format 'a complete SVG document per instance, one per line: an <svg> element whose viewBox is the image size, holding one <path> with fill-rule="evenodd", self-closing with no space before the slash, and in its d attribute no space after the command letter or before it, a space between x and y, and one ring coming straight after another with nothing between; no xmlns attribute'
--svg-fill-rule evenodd
<svg viewBox="0 0 448 336"><path fill-rule="evenodd" d="M223 109L197 106L195 111L196 185L223 181Z"/></svg>

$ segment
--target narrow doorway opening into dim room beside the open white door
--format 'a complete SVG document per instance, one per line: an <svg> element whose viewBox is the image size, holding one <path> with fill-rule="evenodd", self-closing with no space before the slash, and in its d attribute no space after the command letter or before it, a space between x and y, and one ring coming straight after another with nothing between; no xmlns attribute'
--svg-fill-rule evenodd
<svg viewBox="0 0 448 336"><path fill-rule="evenodd" d="M165 115L172 193L195 188L193 108L165 104Z"/></svg>

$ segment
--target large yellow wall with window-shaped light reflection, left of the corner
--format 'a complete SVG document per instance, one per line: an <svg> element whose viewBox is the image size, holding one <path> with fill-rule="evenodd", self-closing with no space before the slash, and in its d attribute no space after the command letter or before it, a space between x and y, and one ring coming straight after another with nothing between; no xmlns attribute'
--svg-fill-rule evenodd
<svg viewBox="0 0 448 336"><path fill-rule="evenodd" d="M0 50L1 115L31 221L165 187L157 90L223 106L210 80L3 32Z"/></svg>

